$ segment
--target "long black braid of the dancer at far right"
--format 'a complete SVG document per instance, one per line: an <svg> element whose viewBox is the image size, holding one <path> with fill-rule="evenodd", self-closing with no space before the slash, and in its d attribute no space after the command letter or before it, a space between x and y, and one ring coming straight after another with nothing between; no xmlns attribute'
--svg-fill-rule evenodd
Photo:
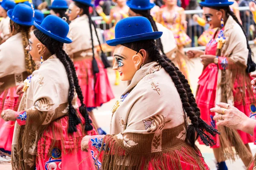
<svg viewBox="0 0 256 170"><path fill-rule="evenodd" d="M238 18L236 17L236 15L234 14L233 11L231 11L230 7L209 7L212 9L216 9L216 10L220 10L220 9L224 9L224 11L227 12L228 15L230 15L231 17L233 17L233 19L236 21L236 23L242 28L244 36L246 38L246 43L247 43L247 49L249 51L248 53L248 59L247 59L247 68L246 71L247 73L253 72L256 70L256 64L253 62L252 56L253 56L253 52L250 48L249 42L248 42L248 37L246 34L246 31L244 30L244 27L241 25L241 23L239 22Z"/></svg>

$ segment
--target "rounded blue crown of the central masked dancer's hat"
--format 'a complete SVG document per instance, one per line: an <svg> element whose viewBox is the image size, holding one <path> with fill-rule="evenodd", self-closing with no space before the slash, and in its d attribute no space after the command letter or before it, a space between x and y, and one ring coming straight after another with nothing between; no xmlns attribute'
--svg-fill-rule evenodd
<svg viewBox="0 0 256 170"><path fill-rule="evenodd" d="M122 38L153 32L151 23L145 17L128 17L120 20L115 27L115 37Z"/></svg>

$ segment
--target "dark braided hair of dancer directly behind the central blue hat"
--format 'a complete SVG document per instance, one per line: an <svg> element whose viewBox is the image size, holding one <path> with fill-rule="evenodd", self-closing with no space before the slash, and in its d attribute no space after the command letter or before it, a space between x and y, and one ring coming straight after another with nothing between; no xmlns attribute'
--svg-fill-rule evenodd
<svg viewBox="0 0 256 170"><path fill-rule="evenodd" d="M157 25L156 25L153 17L150 14L150 10L142 11L142 10L135 10L135 9L132 9L132 8L131 8L131 10L134 11L135 13L137 13L137 14L141 14L143 17L148 18L148 20L151 23L151 26L152 26L153 30L158 31ZM157 47L161 50L162 54L166 55L163 51L163 44L162 44L161 38L157 39L156 42L157 42Z"/></svg>

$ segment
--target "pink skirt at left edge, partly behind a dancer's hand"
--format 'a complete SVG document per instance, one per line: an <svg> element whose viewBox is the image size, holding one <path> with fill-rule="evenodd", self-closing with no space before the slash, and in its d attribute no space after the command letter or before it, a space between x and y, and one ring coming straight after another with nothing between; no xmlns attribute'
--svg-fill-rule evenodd
<svg viewBox="0 0 256 170"><path fill-rule="evenodd" d="M6 89L0 93L0 113L6 109L18 110L22 97L16 94L16 87ZM4 121L0 118L0 148L11 151L14 121Z"/></svg>

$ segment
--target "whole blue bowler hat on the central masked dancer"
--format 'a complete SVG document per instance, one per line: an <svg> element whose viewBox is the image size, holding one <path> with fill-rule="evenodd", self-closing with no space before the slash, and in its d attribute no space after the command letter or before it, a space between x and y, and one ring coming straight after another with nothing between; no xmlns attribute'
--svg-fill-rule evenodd
<svg viewBox="0 0 256 170"><path fill-rule="evenodd" d="M145 17L128 17L120 20L115 27L115 39L108 40L107 44L116 46L118 44L140 41L156 40L163 32L152 30L151 23Z"/></svg>

